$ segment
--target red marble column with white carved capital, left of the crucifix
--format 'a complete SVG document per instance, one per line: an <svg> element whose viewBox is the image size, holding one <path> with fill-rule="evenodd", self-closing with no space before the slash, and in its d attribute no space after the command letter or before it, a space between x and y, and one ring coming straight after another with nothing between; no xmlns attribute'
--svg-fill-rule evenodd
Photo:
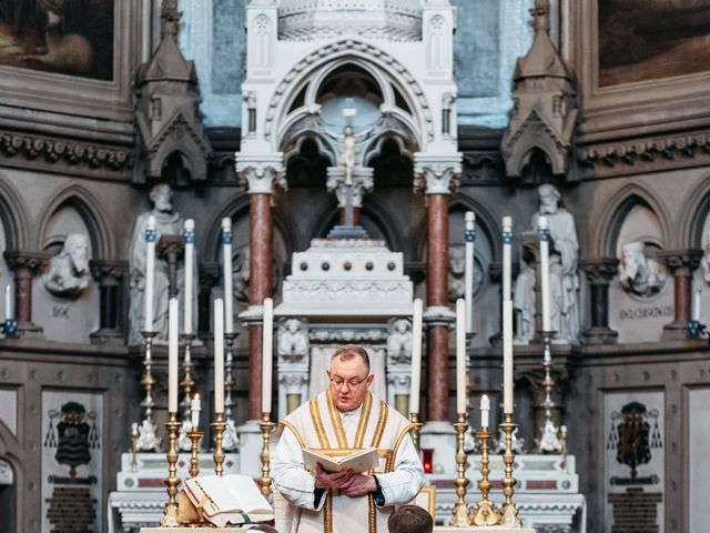
<svg viewBox="0 0 710 533"><path fill-rule="evenodd" d="M255 157L254 157L255 158ZM262 413L262 305L273 288L273 220L271 199L286 188L283 155L237 158L236 172L250 194L248 419Z"/></svg>

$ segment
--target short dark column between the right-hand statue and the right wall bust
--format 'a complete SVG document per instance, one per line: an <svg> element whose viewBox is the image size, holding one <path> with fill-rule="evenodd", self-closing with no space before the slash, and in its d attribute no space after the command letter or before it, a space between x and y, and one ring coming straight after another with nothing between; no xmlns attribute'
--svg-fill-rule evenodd
<svg viewBox="0 0 710 533"><path fill-rule="evenodd" d="M613 344L619 333L609 328L609 283L617 274L619 260L599 258L580 261L589 283L590 326L581 334L585 344Z"/></svg>

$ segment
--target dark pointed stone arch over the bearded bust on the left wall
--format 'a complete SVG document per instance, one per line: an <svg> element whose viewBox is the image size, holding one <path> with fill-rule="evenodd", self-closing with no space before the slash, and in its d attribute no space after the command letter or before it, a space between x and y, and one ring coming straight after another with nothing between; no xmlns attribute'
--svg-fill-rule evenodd
<svg viewBox="0 0 710 533"><path fill-rule="evenodd" d="M101 259L115 258L113 232L109 230L109 223L103 217L106 210L97 197L78 184L62 189L42 205L40 210L40 213L43 213L42 220L39 223L39 231L34 235L36 247L39 248L41 245L40 239L47 233L51 217L64 204L74 208L84 221L89 231L93 257Z"/></svg>

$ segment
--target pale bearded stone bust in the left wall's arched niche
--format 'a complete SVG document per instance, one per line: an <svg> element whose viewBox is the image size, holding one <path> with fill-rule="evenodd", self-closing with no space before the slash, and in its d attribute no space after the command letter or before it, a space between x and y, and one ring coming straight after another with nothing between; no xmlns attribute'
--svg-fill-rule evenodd
<svg viewBox="0 0 710 533"><path fill-rule="evenodd" d="M71 233L57 255L50 260L42 278L44 289L62 298L77 298L89 286L89 239Z"/></svg>

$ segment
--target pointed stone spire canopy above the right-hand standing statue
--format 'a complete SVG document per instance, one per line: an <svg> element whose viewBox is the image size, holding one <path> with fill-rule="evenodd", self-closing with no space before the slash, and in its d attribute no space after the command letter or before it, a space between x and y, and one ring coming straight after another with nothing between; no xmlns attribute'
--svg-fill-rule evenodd
<svg viewBox="0 0 710 533"><path fill-rule="evenodd" d="M549 0L536 0L530 9L535 38L514 73L514 109L501 151L506 174L523 175L537 149L557 175L566 174L575 124L576 92L572 77L549 36Z"/></svg>

